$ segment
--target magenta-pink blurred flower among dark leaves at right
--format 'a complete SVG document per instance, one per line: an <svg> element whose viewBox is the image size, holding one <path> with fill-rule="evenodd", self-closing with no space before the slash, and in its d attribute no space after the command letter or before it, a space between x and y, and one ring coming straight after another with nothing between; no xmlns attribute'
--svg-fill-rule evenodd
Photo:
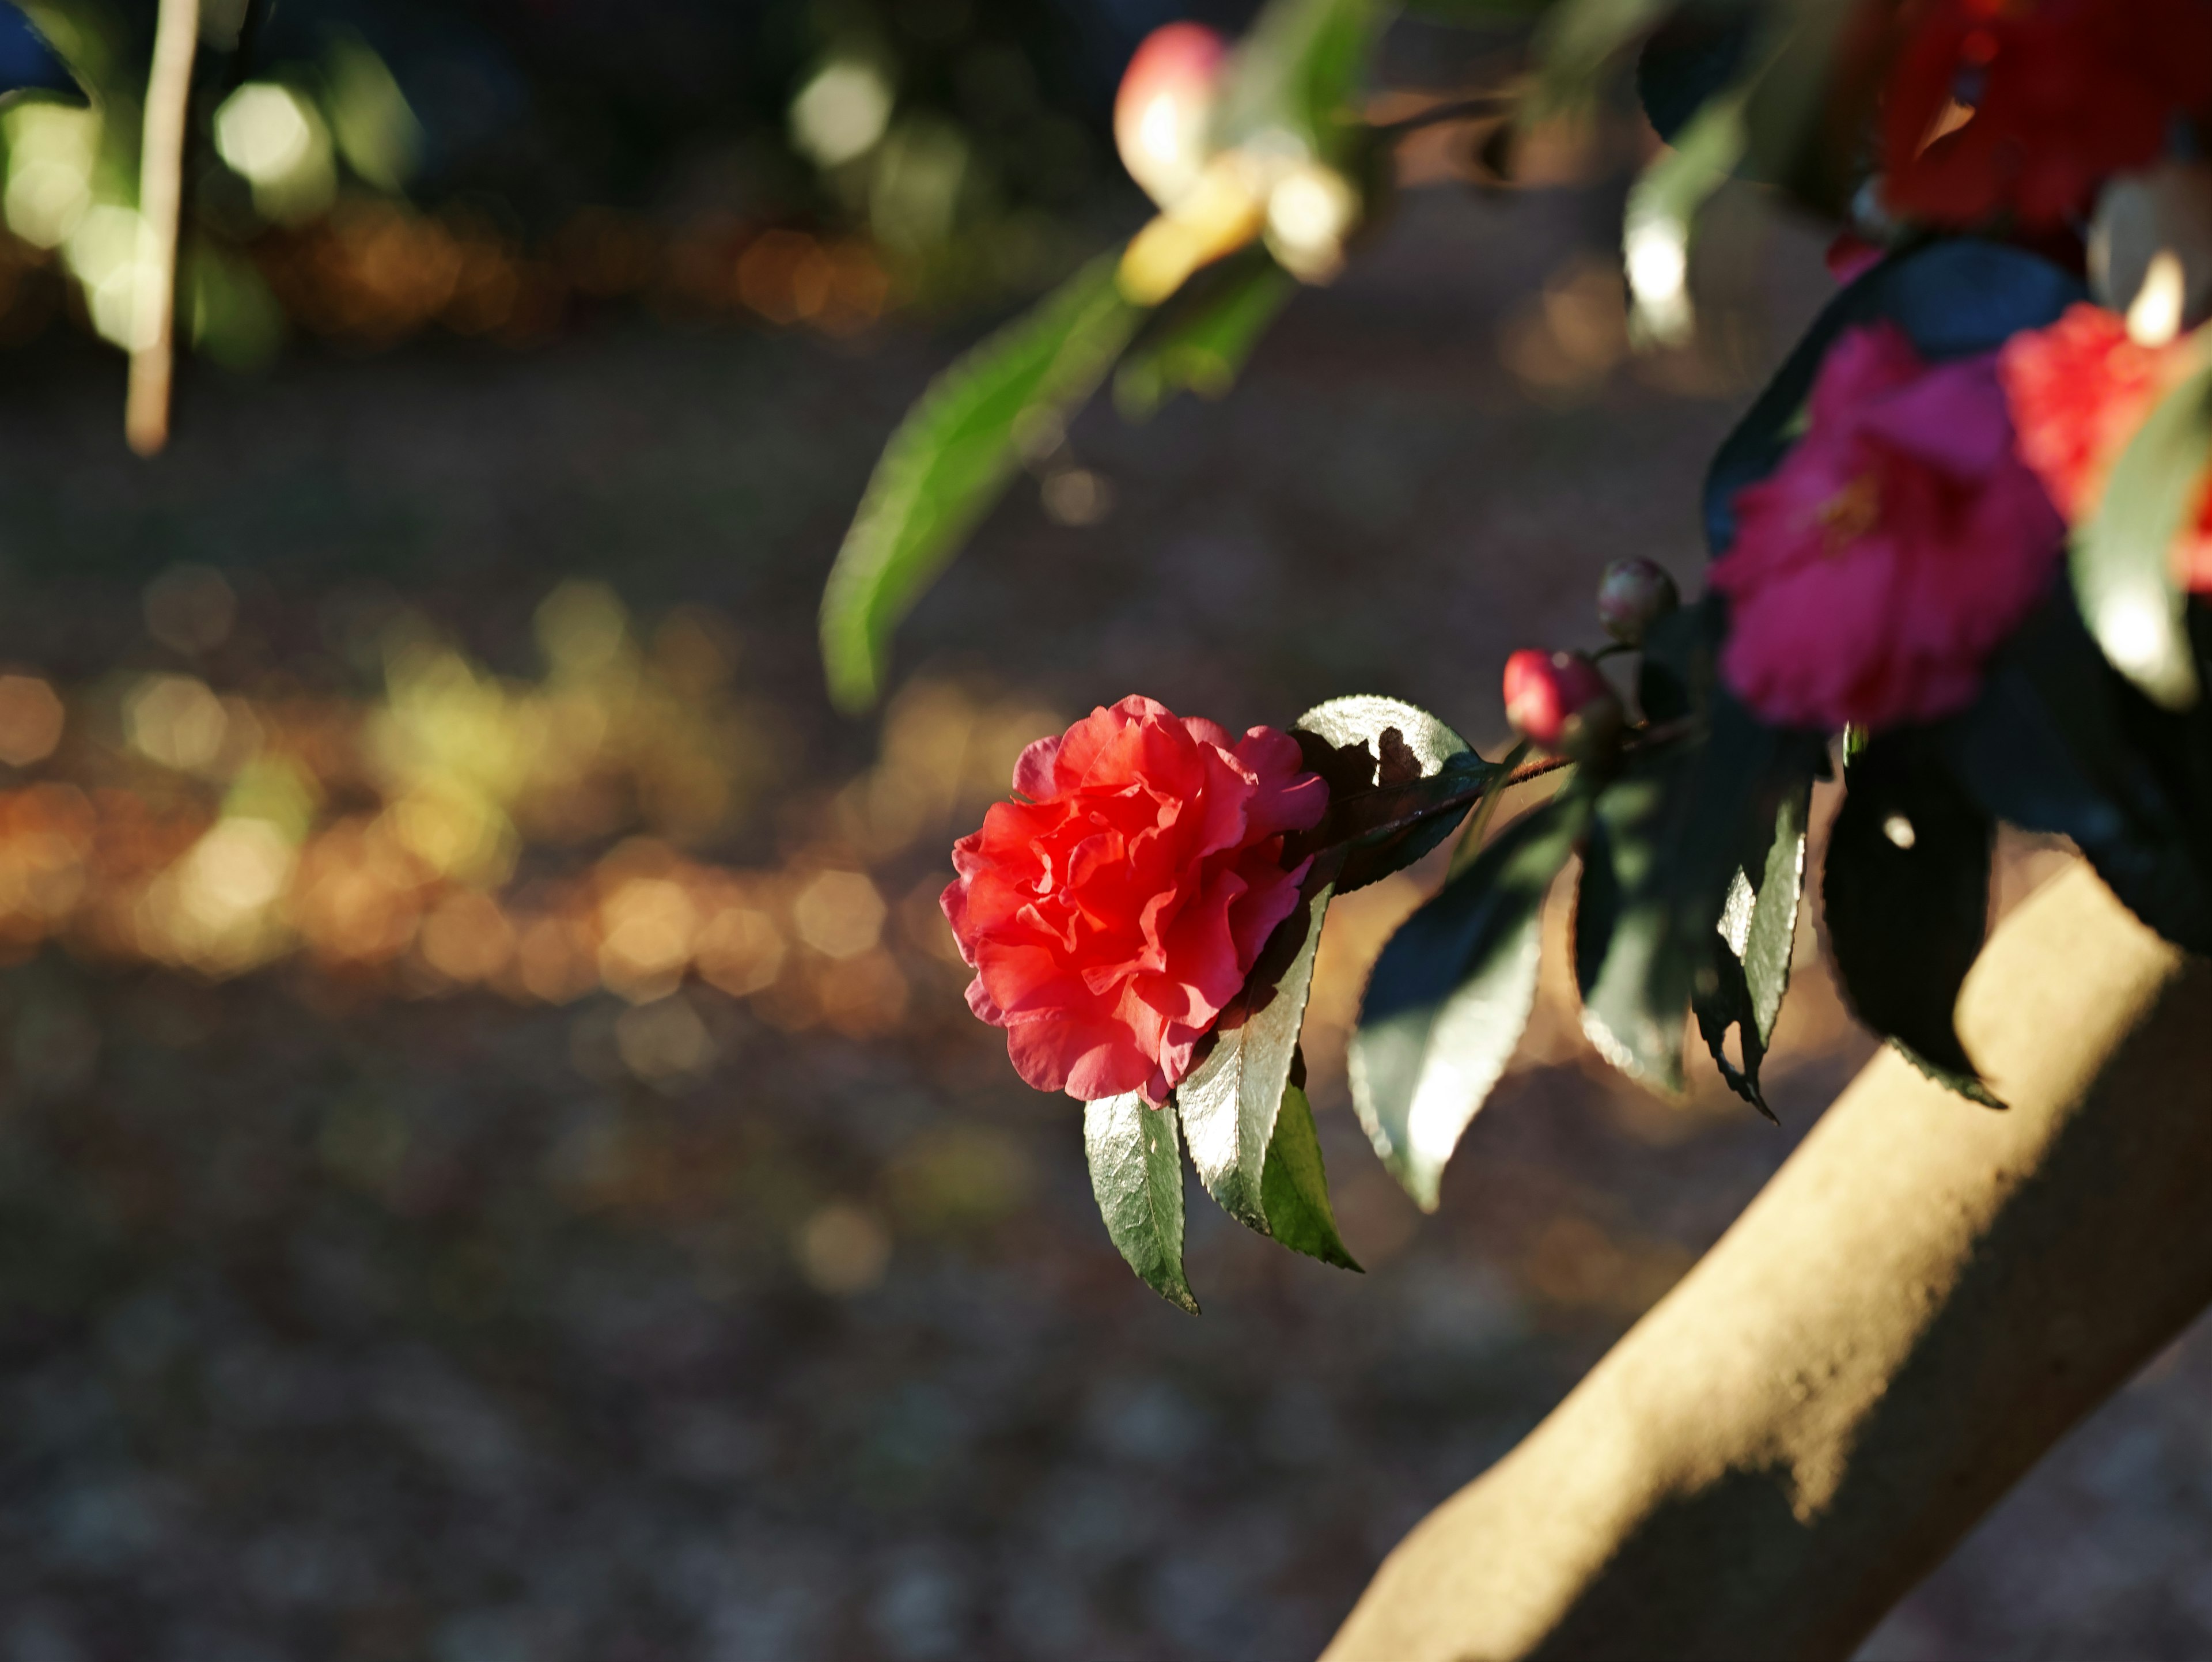
<svg viewBox="0 0 2212 1662"><path fill-rule="evenodd" d="M2013 454L1995 354L1929 365L1893 323L1849 330L1781 467L1736 494L1712 564L1721 677L1785 726L1887 728L1973 702L2051 584L2066 527Z"/></svg>

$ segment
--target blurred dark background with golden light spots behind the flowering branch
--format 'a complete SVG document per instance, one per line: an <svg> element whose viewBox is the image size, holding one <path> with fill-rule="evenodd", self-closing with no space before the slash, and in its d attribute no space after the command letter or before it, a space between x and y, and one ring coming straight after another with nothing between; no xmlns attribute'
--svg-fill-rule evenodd
<svg viewBox="0 0 2212 1662"><path fill-rule="evenodd" d="M93 100L0 113L0 1660L1312 1655L1865 1060L1818 921L1781 1131L1621 1084L1553 976L1420 1217L1343 1084L1438 872L1391 879L1307 1036L1367 1275L1192 1191L1192 1321L967 1016L945 850L1022 744L1387 690L1495 755L1608 560L1694 582L1703 460L1829 292L1728 197L1697 336L1632 356L1641 137L1506 181L1429 135L1230 398L1086 416L834 717L885 434L1139 221L1144 31L1248 9L210 4L139 463L150 7L33 7ZM1506 49L1405 27L1380 97ZM1865 1655L2201 1655L2208 1388L2183 1339Z"/></svg>

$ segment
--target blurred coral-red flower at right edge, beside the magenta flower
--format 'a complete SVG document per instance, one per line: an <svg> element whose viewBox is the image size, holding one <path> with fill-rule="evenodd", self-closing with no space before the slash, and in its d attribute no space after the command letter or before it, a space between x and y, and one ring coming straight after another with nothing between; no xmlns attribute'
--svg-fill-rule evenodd
<svg viewBox="0 0 2212 1662"><path fill-rule="evenodd" d="M2020 456L2070 524L2097 511L2112 463L2192 359L2188 336L2137 345L2119 314L2088 303L2004 343L1997 378L2013 407ZM2174 564L2190 589L2212 593L2212 496L2174 549Z"/></svg>

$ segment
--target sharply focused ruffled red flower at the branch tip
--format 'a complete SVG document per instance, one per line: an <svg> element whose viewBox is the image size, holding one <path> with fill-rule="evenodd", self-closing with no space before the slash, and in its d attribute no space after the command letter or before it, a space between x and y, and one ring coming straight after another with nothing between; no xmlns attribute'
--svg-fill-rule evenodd
<svg viewBox="0 0 2212 1662"><path fill-rule="evenodd" d="M953 843L945 916L975 969L969 1009L1006 1029L1015 1071L1084 1102L1159 1107L1298 903L1283 834L1329 806L1298 744L1232 739L1146 697L1037 739Z"/></svg>

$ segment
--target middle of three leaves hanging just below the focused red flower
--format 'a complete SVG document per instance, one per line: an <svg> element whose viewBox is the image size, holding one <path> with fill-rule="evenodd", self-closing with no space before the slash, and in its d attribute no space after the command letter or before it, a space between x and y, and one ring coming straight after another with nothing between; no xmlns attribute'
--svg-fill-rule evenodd
<svg viewBox="0 0 2212 1662"><path fill-rule="evenodd" d="M1199 1182L1221 1211L1261 1235L1276 1233L1267 1215L1265 1175L1305 1000L1314 989L1314 952L1329 892L1323 885L1283 918L1243 991L1221 1011L1212 1051L1175 1091ZM1274 969L1270 958L1281 963L1283 947L1290 947L1287 963Z"/></svg>

